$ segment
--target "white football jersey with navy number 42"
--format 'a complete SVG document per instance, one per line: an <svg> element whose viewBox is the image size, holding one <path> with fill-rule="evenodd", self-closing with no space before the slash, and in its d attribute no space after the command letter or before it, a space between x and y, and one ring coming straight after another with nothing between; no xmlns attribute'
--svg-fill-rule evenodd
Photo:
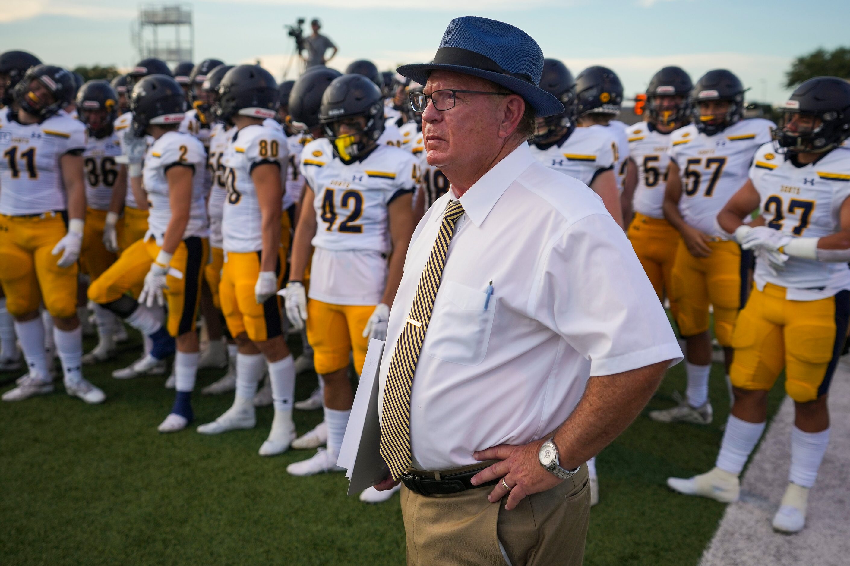
<svg viewBox="0 0 850 566"><path fill-rule="evenodd" d="M418 168L416 157L387 145L348 165L333 155L327 139L304 146L301 173L314 191L318 224L310 298L331 304L380 303L392 248L388 205L413 192Z"/></svg>

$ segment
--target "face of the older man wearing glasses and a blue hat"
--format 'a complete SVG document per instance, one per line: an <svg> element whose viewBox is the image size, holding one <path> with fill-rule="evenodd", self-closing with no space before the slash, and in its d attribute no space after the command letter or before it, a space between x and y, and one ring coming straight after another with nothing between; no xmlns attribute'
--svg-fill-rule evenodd
<svg viewBox="0 0 850 566"><path fill-rule="evenodd" d="M426 94L441 88L495 92L494 85L474 76L450 71L433 71L425 85ZM476 156L490 155L503 143L499 137L501 96L457 93L455 107L437 110L433 104L422 112L422 134L428 165L445 167Z"/></svg>

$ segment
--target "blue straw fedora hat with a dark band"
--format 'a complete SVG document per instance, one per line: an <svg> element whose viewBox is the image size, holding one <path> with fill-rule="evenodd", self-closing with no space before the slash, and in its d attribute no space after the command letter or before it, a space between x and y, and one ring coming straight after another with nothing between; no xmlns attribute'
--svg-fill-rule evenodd
<svg viewBox="0 0 850 566"><path fill-rule="evenodd" d="M402 65L401 76L425 84L434 70L455 71L487 79L519 94L536 116L564 112L564 105L537 85L543 52L529 34L501 21L477 16L455 18L445 29L431 63Z"/></svg>

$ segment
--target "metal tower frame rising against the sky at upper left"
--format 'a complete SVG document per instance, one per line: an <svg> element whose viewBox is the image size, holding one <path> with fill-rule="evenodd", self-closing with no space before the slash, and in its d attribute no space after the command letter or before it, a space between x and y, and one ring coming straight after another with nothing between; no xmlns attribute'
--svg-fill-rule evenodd
<svg viewBox="0 0 850 566"><path fill-rule="evenodd" d="M133 25L133 42L139 58L156 57L175 65L191 61L195 28L190 4L142 4Z"/></svg>

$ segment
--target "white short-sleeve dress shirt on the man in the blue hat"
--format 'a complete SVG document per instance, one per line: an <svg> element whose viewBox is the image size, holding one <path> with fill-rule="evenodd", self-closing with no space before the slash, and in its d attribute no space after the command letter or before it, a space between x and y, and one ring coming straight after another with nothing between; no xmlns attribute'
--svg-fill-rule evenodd
<svg viewBox="0 0 850 566"><path fill-rule="evenodd" d="M454 198L449 190L435 201L411 239L389 316L381 399ZM413 379L414 467L467 466L475 450L541 439L570 416L588 377L682 359L631 244L586 184L545 167L522 144L460 201L465 214Z"/></svg>

